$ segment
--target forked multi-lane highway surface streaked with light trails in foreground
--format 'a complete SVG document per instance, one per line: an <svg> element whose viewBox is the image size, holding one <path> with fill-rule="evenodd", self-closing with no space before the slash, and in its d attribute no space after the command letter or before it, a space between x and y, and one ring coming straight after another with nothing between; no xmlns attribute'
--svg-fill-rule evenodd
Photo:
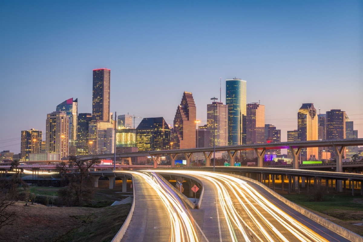
<svg viewBox="0 0 363 242"><path fill-rule="evenodd" d="M167 173L203 183L200 209L189 212L154 172L132 172L135 212L122 241L349 241L254 182L213 172Z"/></svg>

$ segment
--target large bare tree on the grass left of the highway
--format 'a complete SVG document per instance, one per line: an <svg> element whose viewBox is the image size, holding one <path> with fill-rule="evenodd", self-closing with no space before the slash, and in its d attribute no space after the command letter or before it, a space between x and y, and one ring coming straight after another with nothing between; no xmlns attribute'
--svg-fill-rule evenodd
<svg viewBox="0 0 363 242"><path fill-rule="evenodd" d="M66 189L59 191L59 196L66 205L82 205L90 201L93 195L92 178L88 176L89 169L100 163L98 158L91 160L80 160L76 156L70 156L68 165L61 163L57 165L60 175L68 180ZM70 171L73 171L70 173Z"/></svg>

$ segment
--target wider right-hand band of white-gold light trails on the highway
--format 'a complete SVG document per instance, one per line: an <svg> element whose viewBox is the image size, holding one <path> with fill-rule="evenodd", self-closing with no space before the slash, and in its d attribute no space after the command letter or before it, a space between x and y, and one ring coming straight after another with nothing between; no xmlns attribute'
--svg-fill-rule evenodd
<svg viewBox="0 0 363 242"><path fill-rule="evenodd" d="M203 171L170 173L201 177L215 185L220 209L228 225L230 237L228 241L328 242L279 209L244 180L226 174Z"/></svg>

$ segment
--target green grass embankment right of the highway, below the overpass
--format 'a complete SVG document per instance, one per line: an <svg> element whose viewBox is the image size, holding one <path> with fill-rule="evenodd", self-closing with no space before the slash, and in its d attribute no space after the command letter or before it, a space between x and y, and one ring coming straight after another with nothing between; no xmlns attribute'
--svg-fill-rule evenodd
<svg viewBox="0 0 363 242"><path fill-rule="evenodd" d="M338 225L363 236L363 196L351 194L328 194L323 201L311 201L306 194L281 194L288 200L326 218Z"/></svg>

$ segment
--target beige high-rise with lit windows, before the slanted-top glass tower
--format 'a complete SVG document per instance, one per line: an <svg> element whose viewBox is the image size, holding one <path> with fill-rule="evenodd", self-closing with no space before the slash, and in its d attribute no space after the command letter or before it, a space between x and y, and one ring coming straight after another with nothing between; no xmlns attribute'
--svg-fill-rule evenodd
<svg viewBox="0 0 363 242"><path fill-rule="evenodd" d="M57 153L60 159L68 159L69 118L65 112L47 114L45 147L46 153Z"/></svg>

